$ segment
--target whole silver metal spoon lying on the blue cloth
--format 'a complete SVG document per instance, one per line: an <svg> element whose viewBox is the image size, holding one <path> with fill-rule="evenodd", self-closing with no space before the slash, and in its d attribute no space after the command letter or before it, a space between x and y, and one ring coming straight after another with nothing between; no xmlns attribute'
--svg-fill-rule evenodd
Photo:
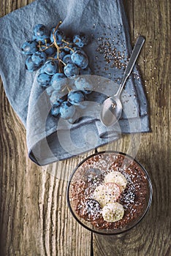
<svg viewBox="0 0 171 256"><path fill-rule="evenodd" d="M132 50L132 55L129 59L129 63L125 69L123 80L121 86L119 87L117 93L114 96L111 96L104 100L102 105L102 110L100 113L100 120L104 126L109 127L121 118L122 114L122 103L120 100L121 91L123 89L124 84L126 83L127 78L129 77L132 69L134 67L134 63L137 60L137 57L140 54L140 50L142 48L143 43L145 42L144 37L138 37L137 42L134 45L134 49Z"/></svg>

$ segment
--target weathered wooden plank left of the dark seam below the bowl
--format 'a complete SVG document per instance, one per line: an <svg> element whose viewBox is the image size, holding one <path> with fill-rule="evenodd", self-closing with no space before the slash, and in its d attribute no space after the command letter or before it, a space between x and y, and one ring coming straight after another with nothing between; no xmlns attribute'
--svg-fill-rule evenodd
<svg viewBox="0 0 171 256"><path fill-rule="evenodd" d="M28 3L1 1L1 16ZM26 131L2 83L0 98L0 255L90 255L91 234L66 206L69 173L86 155L34 165L26 151Z"/></svg>

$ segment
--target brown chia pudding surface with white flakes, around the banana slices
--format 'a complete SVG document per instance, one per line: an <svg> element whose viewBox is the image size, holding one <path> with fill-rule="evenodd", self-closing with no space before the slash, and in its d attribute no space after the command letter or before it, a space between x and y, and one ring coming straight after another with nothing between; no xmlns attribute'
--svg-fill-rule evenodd
<svg viewBox="0 0 171 256"><path fill-rule="evenodd" d="M125 189L119 197L112 196L114 201L110 202L120 203L124 214L116 222L107 222L102 216L104 206L94 198L94 191L103 187L104 177L113 171L126 178ZM144 170L133 159L115 152L96 154L86 159L77 167L70 186L69 199L77 216L100 230L126 228L142 216L148 204L148 179Z"/></svg>

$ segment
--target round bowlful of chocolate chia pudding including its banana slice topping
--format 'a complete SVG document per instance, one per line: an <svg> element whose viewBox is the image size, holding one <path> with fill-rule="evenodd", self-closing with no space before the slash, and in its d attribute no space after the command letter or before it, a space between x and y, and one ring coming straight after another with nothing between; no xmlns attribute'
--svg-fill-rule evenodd
<svg viewBox="0 0 171 256"><path fill-rule="evenodd" d="M151 181L144 168L132 157L113 151L81 162L68 187L72 214L99 233L121 233L137 224L150 206L151 195Z"/></svg>

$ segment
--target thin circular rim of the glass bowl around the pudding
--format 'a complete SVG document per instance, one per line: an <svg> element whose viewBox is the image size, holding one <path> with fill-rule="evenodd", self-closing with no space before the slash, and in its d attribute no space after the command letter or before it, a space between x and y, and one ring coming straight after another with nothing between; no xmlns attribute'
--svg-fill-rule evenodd
<svg viewBox="0 0 171 256"><path fill-rule="evenodd" d="M99 155L99 154L110 154L110 153L113 153L113 154L121 154L123 156L126 156L132 160L134 160L134 162L137 163L137 165L139 165L142 170L144 171L145 175L147 176L147 179L148 179L148 185L149 185L149 200L148 200L148 205L147 207L145 208L145 211L144 213L142 214L142 216L140 217L140 219L137 220L137 222L134 222L134 224L131 226L131 227L128 227L126 230L118 230L118 232L115 232L115 233L104 233L102 231L98 231L98 230L94 230L94 229L91 229L91 227L88 227L86 226L85 224L83 224L83 222L80 221L80 219L77 218L77 216L75 215L75 212L72 210L72 206L70 204L70 200L69 200L69 187L70 187L70 184L72 182L72 178L73 176L75 175L75 172L77 171L78 167L80 167L80 165L83 164L83 162L86 162L88 159L90 159L91 157L94 157L96 155ZM136 159L134 159L133 157L129 156L129 154L126 154L126 153L123 153L123 152L120 152L120 151L99 151L99 152L96 152L94 154L91 154L90 156L86 157L85 159L83 159L76 167L75 169L72 171L72 174L71 176L69 177L69 182L68 182L68 185L67 185L67 190L66 190L66 200L67 200L67 204L69 206L69 210L71 211L72 213L72 216L76 219L76 221L82 226L82 227L85 227L87 230L93 232L93 233L96 233L96 234L99 234L99 235L104 235L104 236L115 236L115 235L119 235L121 233L125 233L129 230L131 230L133 227L135 227L138 223L140 223L140 221L145 217L145 214L148 212L148 209L150 208L151 206L151 201L152 201L152 196L153 196L153 188L152 188L152 184L151 184L151 178L150 176L148 175L148 172L147 170L145 170L145 167L143 167L140 162L138 162ZM115 230L116 231L116 230Z"/></svg>

